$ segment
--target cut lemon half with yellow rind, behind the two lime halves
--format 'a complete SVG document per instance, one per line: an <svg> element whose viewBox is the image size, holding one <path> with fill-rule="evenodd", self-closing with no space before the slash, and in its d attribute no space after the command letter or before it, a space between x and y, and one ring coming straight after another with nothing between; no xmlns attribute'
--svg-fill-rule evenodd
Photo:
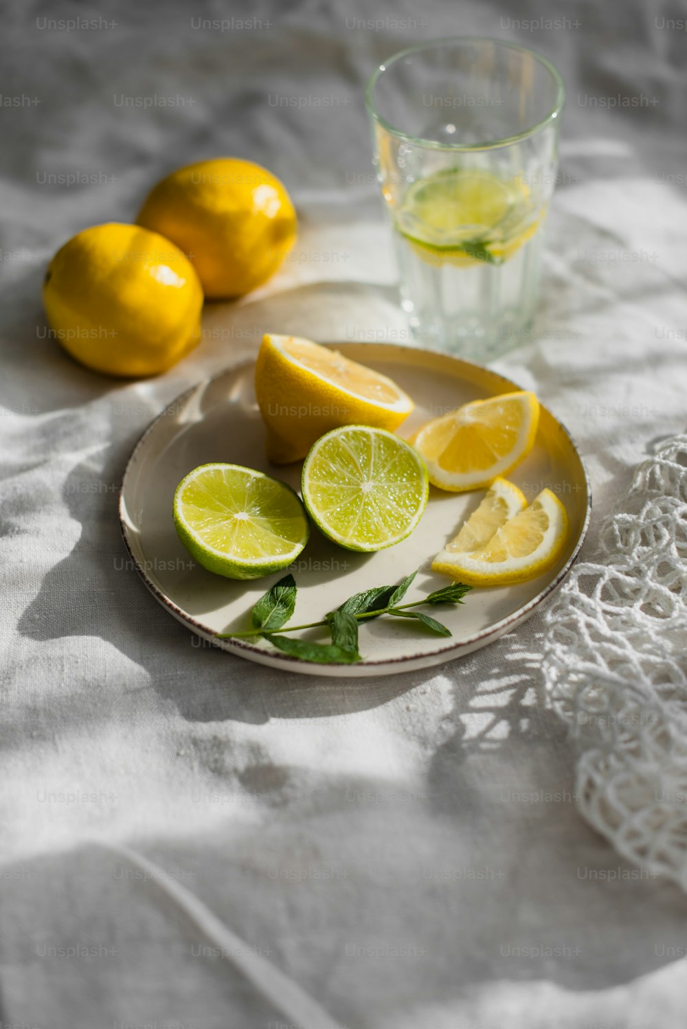
<svg viewBox="0 0 687 1029"><path fill-rule="evenodd" d="M305 457L316 439L341 425L392 432L413 403L386 376L335 350L293 335L262 339L255 395L267 432L267 457L288 464Z"/></svg>

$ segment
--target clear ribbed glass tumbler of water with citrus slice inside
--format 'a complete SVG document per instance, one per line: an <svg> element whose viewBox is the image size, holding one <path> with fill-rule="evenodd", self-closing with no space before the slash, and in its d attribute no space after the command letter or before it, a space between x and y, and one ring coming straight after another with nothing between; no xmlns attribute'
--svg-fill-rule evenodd
<svg viewBox="0 0 687 1029"><path fill-rule="evenodd" d="M533 50L457 37L366 91L401 299L421 343L485 362L529 338L565 90Z"/></svg>

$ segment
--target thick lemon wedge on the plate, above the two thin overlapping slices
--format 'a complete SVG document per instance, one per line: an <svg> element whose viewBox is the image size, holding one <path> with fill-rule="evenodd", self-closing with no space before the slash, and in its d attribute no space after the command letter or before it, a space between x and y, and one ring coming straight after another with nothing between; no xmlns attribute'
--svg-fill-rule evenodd
<svg viewBox="0 0 687 1029"><path fill-rule="evenodd" d="M527 457L539 424L539 401L518 390L489 400L473 400L435 418L414 436L430 482L462 493L489 486Z"/></svg>

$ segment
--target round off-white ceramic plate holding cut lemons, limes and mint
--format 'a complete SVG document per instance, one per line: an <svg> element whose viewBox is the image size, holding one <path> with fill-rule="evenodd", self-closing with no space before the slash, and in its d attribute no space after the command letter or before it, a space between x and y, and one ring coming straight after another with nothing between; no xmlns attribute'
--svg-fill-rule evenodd
<svg viewBox="0 0 687 1029"><path fill-rule="evenodd" d="M468 400L518 388L487 368L432 351L392 344L332 346L390 376L412 396L417 407L399 430L403 436L410 436L428 418ZM175 487L191 468L208 462L259 468L299 490L300 462L275 467L265 459L253 391L254 367L251 360L227 368L175 400L140 439L121 487L121 529L138 571L157 600L207 640L215 633L249 629L252 605L286 574L252 582L213 575L191 560L172 521ZM284 401L288 403L288 397ZM529 617L563 581L582 545L591 510L589 483L577 448L544 407L534 450L510 477L528 500L546 486L558 495L570 518L568 546L554 568L531 582L475 589L463 605L434 608L432 614L450 629L450 638L433 636L420 624L377 618L361 626L363 661L355 665L310 664L277 651L264 640L217 640L217 645L261 665L338 677L411 671L485 646ZM482 496L481 491L450 494L431 487L418 529L408 539L377 554L344 551L313 528L308 546L291 568L298 587L296 624L316 622L352 594L398 582L418 567L421 571L406 601L448 584L449 579L431 571L432 559ZM327 639L319 630L305 635L323 642Z"/></svg>

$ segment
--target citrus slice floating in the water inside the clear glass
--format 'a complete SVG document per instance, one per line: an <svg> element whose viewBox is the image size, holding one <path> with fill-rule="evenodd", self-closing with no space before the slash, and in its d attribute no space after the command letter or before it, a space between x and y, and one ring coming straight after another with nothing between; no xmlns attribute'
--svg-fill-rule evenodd
<svg viewBox="0 0 687 1029"><path fill-rule="evenodd" d="M430 262L501 263L533 235L539 221L533 216L521 179L455 168L414 182L396 212L396 226Z"/></svg>

